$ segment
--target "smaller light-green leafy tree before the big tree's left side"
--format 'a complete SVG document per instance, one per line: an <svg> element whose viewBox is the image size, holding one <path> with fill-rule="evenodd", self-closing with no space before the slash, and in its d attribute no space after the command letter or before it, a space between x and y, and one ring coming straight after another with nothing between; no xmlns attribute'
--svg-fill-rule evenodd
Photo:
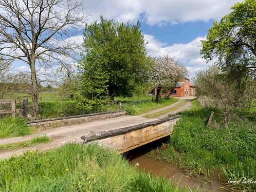
<svg viewBox="0 0 256 192"><path fill-rule="evenodd" d="M108 76L99 65L95 57L87 56L80 61L82 68L73 85L72 98L67 103L68 114L98 112L109 104Z"/></svg>

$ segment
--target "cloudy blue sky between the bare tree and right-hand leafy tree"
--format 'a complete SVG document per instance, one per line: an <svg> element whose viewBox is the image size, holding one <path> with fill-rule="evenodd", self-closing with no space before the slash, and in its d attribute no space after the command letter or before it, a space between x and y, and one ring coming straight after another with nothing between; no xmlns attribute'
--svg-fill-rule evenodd
<svg viewBox="0 0 256 192"><path fill-rule="evenodd" d="M70 0L75 1L75 0ZM81 0L82 1L82 0ZM87 23L99 20L102 15L118 22L140 21L147 53L151 56L169 55L184 64L190 77L207 64L199 54L200 41L204 40L214 21L230 12L237 0L94 0L83 1ZM82 29L72 38L83 41ZM16 70L28 66L14 64Z"/></svg>

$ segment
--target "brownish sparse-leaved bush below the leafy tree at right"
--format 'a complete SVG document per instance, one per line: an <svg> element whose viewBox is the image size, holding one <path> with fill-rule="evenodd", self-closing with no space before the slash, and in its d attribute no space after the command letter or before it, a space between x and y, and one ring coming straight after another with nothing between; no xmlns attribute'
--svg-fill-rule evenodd
<svg viewBox="0 0 256 192"><path fill-rule="evenodd" d="M222 72L218 66L212 65L207 70L196 73L195 87L202 104L204 105L204 98L208 106L220 109L225 125L228 126L231 118L240 118L240 111L251 107L256 93L255 83L254 76L245 76L245 85L240 91L227 72Z"/></svg>

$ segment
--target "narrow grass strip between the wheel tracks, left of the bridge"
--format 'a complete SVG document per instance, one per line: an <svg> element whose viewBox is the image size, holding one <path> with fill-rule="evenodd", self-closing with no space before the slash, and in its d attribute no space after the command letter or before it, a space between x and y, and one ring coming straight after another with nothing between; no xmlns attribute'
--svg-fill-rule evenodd
<svg viewBox="0 0 256 192"><path fill-rule="evenodd" d="M0 145L0 150L14 150L19 148L26 148L26 147L31 147L40 143L49 143L50 141L51 139L49 137L40 136L24 142Z"/></svg>

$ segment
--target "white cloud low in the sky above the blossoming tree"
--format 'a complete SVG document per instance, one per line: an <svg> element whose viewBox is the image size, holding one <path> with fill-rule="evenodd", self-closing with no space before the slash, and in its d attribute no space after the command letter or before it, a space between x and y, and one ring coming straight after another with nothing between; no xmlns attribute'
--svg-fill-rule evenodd
<svg viewBox="0 0 256 192"><path fill-rule="evenodd" d="M209 66L199 53L200 41L204 40L205 37L197 37L187 44L173 44L172 46L164 46L165 44L156 40L153 35L144 34L144 38L148 41L146 48L149 55L163 56L168 54L175 57L175 60L187 67L190 76L193 76L196 71L206 69Z"/></svg>

